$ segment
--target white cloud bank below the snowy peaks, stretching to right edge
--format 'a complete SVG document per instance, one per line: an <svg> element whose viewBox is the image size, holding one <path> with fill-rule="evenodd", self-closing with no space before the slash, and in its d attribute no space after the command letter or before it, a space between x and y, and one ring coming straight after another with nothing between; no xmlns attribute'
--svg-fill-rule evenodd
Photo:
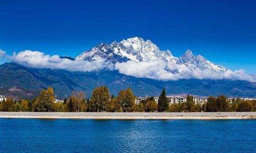
<svg viewBox="0 0 256 153"><path fill-rule="evenodd" d="M248 75L244 70L212 72L210 70L189 69L185 65L168 63L163 60L116 63L115 69L122 74L137 78L148 78L162 81L180 79L210 79L210 80L246 80L256 82L256 77Z"/></svg>

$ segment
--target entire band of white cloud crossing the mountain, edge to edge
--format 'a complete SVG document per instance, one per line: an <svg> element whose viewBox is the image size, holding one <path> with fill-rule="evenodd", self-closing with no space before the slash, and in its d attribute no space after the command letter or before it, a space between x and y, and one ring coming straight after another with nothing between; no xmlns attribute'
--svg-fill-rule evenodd
<svg viewBox="0 0 256 153"><path fill-rule="evenodd" d="M236 70L233 73L226 71L212 72L210 70L189 69L185 65L168 63L163 60L112 64L105 60L96 61L72 61L66 58L60 58L58 55L50 56L42 52L25 50L12 56L6 54L0 49L0 58L6 58L9 61L31 68L50 68L65 69L69 71L100 71L102 69L118 70L125 75L131 75L136 78L148 78L160 81L176 81L180 79L211 79L211 80L246 80L256 82L255 75L246 74L244 70Z"/></svg>

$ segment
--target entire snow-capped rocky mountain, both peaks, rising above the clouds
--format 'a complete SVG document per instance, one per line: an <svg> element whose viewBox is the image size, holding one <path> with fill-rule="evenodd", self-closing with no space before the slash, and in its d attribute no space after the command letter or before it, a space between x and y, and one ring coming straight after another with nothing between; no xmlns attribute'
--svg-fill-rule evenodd
<svg viewBox="0 0 256 153"><path fill-rule="evenodd" d="M92 49L83 52L76 60L94 61L105 59L112 63L122 63L128 60L134 62L164 60L168 63L176 63L189 68L190 70L210 70L213 72L233 73L221 65L206 60L201 55L195 56L190 50L187 50L180 58L174 57L170 51L160 50L159 47L150 40L143 40L139 37L129 38L121 42L112 42L110 44L101 43Z"/></svg>

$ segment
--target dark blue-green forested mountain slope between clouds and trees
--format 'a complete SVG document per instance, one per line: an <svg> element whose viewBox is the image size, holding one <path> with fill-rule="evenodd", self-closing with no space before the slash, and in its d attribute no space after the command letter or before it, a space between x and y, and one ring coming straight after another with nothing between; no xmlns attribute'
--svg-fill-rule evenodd
<svg viewBox="0 0 256 153"><path fill-rule="evenodd" d="M18 95L19 98L32 98L41 88L51 86L58 96L70 95L72 90L82 90L91 96L97 86L106 85L111 94L117 95L121 89L131 87L137 96L157 96L162 88L167 94L195 94L202 96L225 94L227 96L256 97L256 84L247 81L230 80L179 80L157 81L135 78L118 71L103 70L96 72L69 72L66 70L35 69L5 63L0 65L0 94L15 96L8 89L16 86L33 95Z"/></svg>

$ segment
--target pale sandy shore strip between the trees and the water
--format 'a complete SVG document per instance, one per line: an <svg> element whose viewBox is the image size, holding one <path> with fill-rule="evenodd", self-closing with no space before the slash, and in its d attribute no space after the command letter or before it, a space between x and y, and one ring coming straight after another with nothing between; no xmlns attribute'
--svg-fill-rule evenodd
<svg viewBox="0 0 256 153"><path fill-rule="evenodd" d="M256 119L256 112L106 113L106 112L0 112L0 118L70 119Z"/></svg>

